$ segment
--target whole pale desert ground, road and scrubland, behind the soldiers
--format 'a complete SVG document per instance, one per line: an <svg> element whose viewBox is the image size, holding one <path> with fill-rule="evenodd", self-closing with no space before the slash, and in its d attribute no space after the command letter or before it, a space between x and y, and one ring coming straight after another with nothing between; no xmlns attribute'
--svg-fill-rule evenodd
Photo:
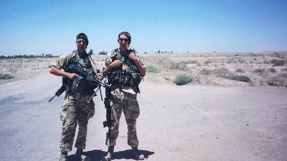
<svg viewBox="0 0 287 161"><path fill-rule="evenodd" d="M138 94L145 160L287 160L287 52L139 55L152 67ZM94 56L99 64L106 57ZM61 77L49 74L56 59L0 59L0 73L14 76L0 80L1 160L59 158L64 96L48 103L61 87ZM177 86L179 74L192 81ZM236 75L250 80L233 80ZM99 94L94 102L84 151L100 160L107 150L106 111ZM123 117L113 160L133 160Z"/></svg>

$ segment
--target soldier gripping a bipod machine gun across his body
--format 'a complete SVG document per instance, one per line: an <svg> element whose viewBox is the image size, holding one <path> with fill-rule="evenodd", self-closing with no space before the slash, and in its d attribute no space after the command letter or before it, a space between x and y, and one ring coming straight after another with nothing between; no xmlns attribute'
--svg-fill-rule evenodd
<svg viewBox="0 0 287 161"><path fill-rule="evenodd" d="M75 88L79 86L77 86L78 84L75 83L74 79L79 76L75 73L61 71L67 65L75 65L102 79L96 59L86 53L88 44L89 41L86 34L79 33L76 37L77 50L61 55L50 69L51 74L68 78L68 81L65 82L65 102L60 111L60 118L63 121L63 131L60 140L60 161L67 160L68 151L72 150L77 124L79 124L79 132L75 143L75 148L77 148L76 156L79 160L89 160L83 149L86 146L88 121L95 113L94 101L87 103L94 93L94 87L85 84L85 88Z"/></svg>

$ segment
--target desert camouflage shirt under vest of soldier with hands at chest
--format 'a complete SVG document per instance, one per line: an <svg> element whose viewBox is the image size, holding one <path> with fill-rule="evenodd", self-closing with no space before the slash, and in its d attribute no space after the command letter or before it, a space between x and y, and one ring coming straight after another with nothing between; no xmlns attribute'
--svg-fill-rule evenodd
<svg viewBox="0 0 287 161"><path fill-rule="evenodd" d="M112 58L113 58L114 54L115 54L115 52L113 50L112 52L110 52L107 55L105 62L102 64L103 70L106 69L112 63ZM139 57L139 55L136 54L136 57L139 60L139 63L141 64L141 66L143 66L143 68L146 69L146 67L143 65L143 60ZM123 70L126 70L126 69L123 67ZM113 88L111 88L111 89L113 89ZM136 88L125 86L125 85L122 86L122 90L125 91L125 92L128 92L128 93L131 93L131 94L136 94L137 93L136 92L137 91ZM118 91L118 89L117 89L117 91Z"/></svg>

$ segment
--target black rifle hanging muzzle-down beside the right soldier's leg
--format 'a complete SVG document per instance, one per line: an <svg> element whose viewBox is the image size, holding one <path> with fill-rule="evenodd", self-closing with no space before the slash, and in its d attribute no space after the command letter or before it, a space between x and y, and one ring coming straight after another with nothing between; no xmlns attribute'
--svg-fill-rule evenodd
<svg viewBox="0 0 287 161"><path fill-rule="evenodd" d="M114 126L114 119L111 118L111 90L110 86L106 86L106 97L104 100L105 109L106 109L106 121L103 122L104 128L108 126L109 128L109 138L111 137L111 127Z"/></svg>

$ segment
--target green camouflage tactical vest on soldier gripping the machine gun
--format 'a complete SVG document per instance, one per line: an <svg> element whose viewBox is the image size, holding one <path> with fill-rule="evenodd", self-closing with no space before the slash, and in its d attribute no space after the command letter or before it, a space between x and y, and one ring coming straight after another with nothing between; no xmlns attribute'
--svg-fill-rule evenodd
<svg viewBox="0 0 287 161"><path fill-rule="evenodd" d="M77 50L73 51L71 56L69 57L69 64L70 65L75 65L80 67L83 71L89 72L93 75L95 75L96 73L92 70L92 66L91 66L91 62L89 60L88 55L85 55L84 57L80 58ZM78 77L80 78L80 77ZM92 85L90 83L88 83L86 80L79 80L79 79L75 79L74 81L70 81L69 83L70 88L72 87L72 89L74 89L73 91L75 92L92 92L96 86Z"/></svg>

